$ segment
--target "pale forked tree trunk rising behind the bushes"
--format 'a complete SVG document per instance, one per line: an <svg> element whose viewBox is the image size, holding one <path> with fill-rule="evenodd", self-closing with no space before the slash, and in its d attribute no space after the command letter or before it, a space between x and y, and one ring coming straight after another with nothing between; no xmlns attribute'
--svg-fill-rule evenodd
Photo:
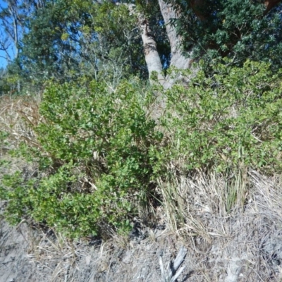
<svg viewBox="0 0 282 282"><path fill-rule="evenodd" d="M268 13L271 8L274 8L277 4L279 4L282 0L264 0L264 5L266 7L265 13ZM98 1L99 3L102 0ZM116 4L120 4L119 2L115 2ZM151 83L154 83L152 80L152 74L154 72L157 73L157 80L160 85L164 86L164 89L170 88L176 82L180 82L187 84L192 76L197 73L198 68L192 68L192 63L194 60L191 58L190 54L192 54L192 48L188 51L188 54L183 54L181 49L181 37L178 35L176 31L176 26L171 22L173 19L179 18L181 11L177 10L177 6L170 4L167 0L158 0L159 8L161 11L161 15L164 18L164 23L166 25L166 35L168 37L168 41L171 47L171 63L170 67L174 67L179 70L191 69L192 73L190 76L185 76L183 78L182 75L177 75L175 72L170 76L164 76L161 66L161 59L159 53L157 51L157 42L154 39L154 35L152 35L152 30L149 26L149 21L145 18L142 13L137 12L135 9L135 4L125 4L128 6L130 13L135 14L137 16L138 27L141 31L142 42L145 53L145 61L147 63L147 68L149 72L149 79ZM191 0L190 8L194 11L195 15L200 20L205 20L207 18L207 14L204 13L203 7L206 5L205 0Z"/></svg>

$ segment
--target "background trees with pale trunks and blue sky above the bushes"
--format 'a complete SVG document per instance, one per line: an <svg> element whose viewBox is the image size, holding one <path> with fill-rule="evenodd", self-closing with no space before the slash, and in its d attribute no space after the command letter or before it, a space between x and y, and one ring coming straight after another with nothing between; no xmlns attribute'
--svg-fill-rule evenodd
<svg viewBox="0 0 282 282"><path fill-rule="evenodd" d="M224 57L281 67L281 3L278 0L11 1L2 8L1 50L25 82L50 78L96 80L166 69L207 69ZM13 28L12 28L13 27ZM8 46L13 44L12 56ZM171 83L168 83L168 86Z"/></svg>

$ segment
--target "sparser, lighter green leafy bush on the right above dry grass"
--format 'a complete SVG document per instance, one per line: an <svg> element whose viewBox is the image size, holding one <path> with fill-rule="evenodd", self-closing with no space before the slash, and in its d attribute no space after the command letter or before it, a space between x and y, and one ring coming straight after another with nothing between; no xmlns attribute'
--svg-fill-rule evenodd
<svg viewBox="0 0 282 282"><path fill-rule="evenodd" d="M267 63L247 61L236 68L226 61L213 73L206 77L199 71L189 87L175 85L166 92L164 158L184 171L280 171L282 72L273 74Z"/></svg>

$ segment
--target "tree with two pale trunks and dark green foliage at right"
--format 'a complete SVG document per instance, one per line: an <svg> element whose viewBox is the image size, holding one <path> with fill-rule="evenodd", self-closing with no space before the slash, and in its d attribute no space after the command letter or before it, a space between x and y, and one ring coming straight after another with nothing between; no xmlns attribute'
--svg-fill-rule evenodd
<svg viewBox="0 0 282 282"><path fill-rule="evenodd" d="M133 1L135 3L135 1ZM271 61L282 66L281 1L252 0L157 0L128 4L136 9L149 75L158 73L159 82L170 87L173 80L163 74L152 23L146 11L158 5L170 44L170 66L192 68L204 59L206 66L223 57L242 64L247 58ZM131 6L130 6L131 5ZM194 71L197 67L194 68Z"/></svg>

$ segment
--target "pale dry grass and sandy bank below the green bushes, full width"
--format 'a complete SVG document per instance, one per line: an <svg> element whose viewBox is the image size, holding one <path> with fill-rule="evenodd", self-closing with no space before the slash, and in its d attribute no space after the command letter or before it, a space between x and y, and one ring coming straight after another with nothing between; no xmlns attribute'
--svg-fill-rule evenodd
<svg viewBox="0 0 282 282"><path fill-rule="evenodd" d="M22 223L13 230L13 238L25 236L25 259L22 256L13 263L25 269L29 265L29 281L162 281L159 256L167 268L184 245L188 254L178 281L281 281L282 179L255 171L244 177L248 181L246 201L242 205L238 200L229 211L223 176L174 180L171 189L181 193L177 196L181 204L173 209L164 202L157 213L166 229L140 226L140 233L147 234L142 240L115 235L106 242L95 238L70 241L54 231L31 232ZM176 216L180 211L183 223ZM26 275L18 273L17 281L26 281Z"/></svg>

